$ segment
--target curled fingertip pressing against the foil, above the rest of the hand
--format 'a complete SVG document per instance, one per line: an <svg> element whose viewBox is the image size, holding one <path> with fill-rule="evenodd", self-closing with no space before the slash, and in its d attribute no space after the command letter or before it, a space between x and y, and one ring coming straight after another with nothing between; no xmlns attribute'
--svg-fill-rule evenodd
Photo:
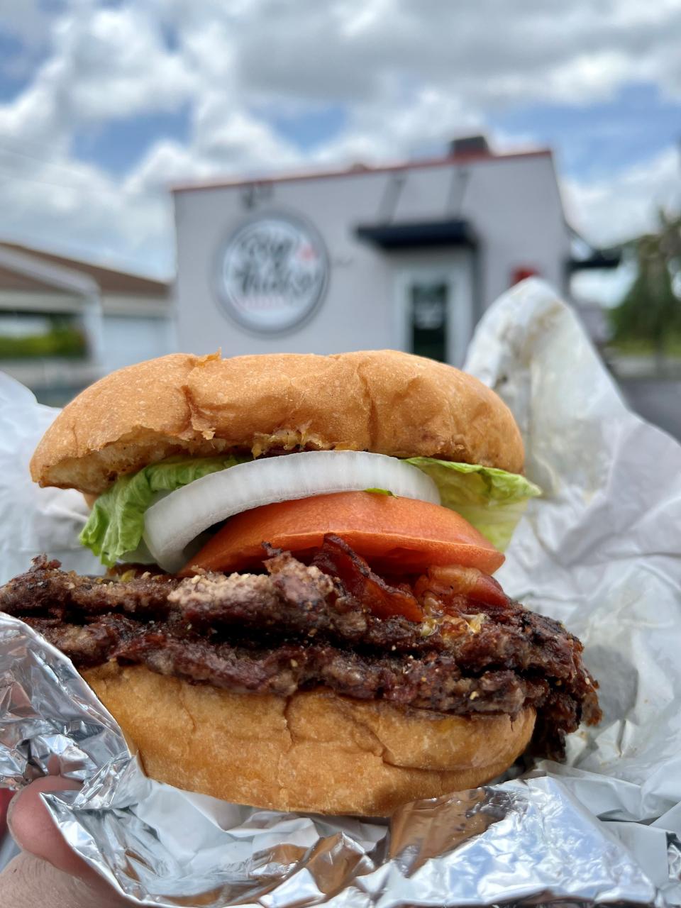
<svg viewBox="0 0 681 908"><path fill-rule="evenodd" d="M80 788L80 783L57 775L37 779L15 795L9 806L7 824L16 844L24 851L88 883L102 883L99 874L66 843L40 797L43 792L73 791L76 788Z"/></svg>

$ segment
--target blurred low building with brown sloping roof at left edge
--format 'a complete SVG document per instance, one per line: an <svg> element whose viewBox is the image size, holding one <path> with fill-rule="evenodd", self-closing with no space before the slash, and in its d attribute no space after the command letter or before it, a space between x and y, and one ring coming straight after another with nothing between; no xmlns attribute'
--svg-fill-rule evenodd
<svg viewBox="0 0 681 908"><path fill-rule="evenodd" d="M163 281L0 242L0 370L44 403L174 350L172 316Z"/></svg>

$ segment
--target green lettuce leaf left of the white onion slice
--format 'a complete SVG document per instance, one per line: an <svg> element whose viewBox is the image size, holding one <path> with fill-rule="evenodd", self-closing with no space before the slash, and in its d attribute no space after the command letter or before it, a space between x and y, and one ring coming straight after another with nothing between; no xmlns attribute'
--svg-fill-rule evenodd
<svg viewBox="0 0 681 908"><path fill-rule="evenodd" d="M84 546L109 567L117 560L148 561L142 535L144 512L159 492L173 492L194 479L233 467L250 458L173 458L153 463L138 473L122 476L94 502L80 535ZM142 545L142 551L140 547ZM127 558L123 556L127 555Z"/></svg>

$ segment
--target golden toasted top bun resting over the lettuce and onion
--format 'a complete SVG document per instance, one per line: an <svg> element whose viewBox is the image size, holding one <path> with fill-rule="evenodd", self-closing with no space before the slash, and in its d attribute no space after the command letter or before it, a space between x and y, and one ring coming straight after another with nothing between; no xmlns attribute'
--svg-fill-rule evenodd
<svg viewBox="0 0 681 908"><path fill-rule="evenodd" d="M64 408L31 461L41 486L100 493L178 454L370 450L517 473L508 407L478 379L396 350L163 356L97 381Z"/></svg>

